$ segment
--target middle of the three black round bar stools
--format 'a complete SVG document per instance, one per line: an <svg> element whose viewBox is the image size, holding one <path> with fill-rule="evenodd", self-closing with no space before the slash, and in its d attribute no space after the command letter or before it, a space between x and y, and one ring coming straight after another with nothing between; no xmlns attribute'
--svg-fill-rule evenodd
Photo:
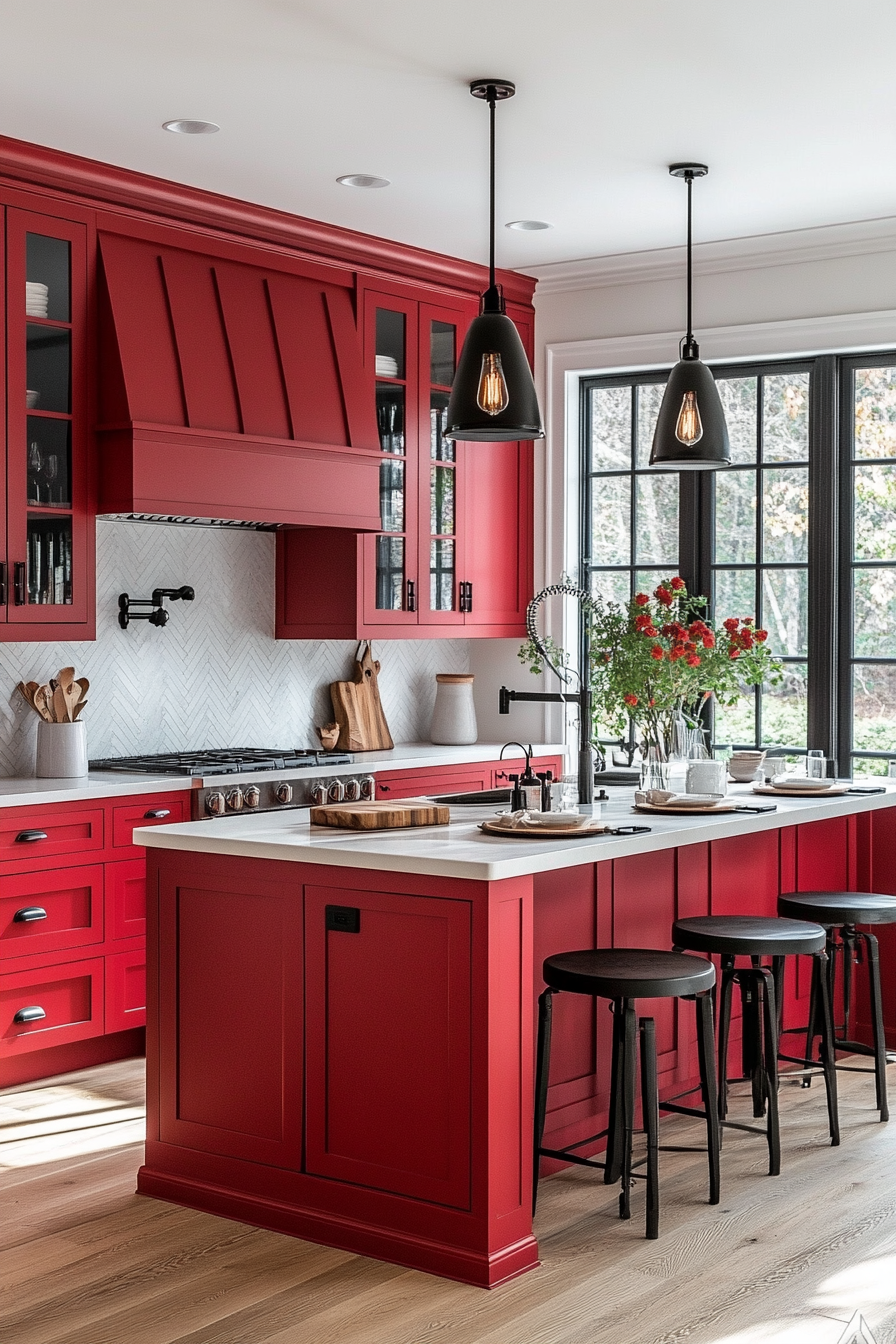
<svg viewBox="0 0 896 1344"><path fill-rule="evenodd" d="M672 926L676 948L716 953L721 957L721 1007L719 1009L719 1117L723 1126L747 1133L764 1133L768 1142L768 1175L780 1173L780 1132L778 1122L778 1004L782 1001L785 957L811 956L826 968L826 934L818 923L805 919L775 919L764 915L704 915L677 919ZM737 966L737 957L750 957L750 966ZM771 958L771 966L762 964ZM830 1141L840 1142L837 1117L837 1075L834 1073L834 1027L830 1016L827 976L821 974L821 1059L827 1090ZM728 1120L728 1032L731 997L740 988L743 1005L743 1073L752 1085L752 1113L766 1116L764 1130ZM799 1060L795 1060L799 1063Z"/></svg>

